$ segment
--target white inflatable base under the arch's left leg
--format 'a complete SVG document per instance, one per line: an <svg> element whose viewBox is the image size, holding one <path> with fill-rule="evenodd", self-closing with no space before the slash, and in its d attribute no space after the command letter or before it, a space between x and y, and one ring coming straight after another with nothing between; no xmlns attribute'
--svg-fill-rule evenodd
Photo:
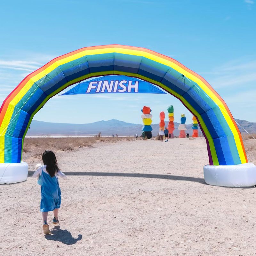
<svg viewBox="0 0 256 256"><path fill-rule="evenodd" d="M28 164L26 162L14 164L0 164L0 184L10 184L25 181L28 178Z"/></svg>

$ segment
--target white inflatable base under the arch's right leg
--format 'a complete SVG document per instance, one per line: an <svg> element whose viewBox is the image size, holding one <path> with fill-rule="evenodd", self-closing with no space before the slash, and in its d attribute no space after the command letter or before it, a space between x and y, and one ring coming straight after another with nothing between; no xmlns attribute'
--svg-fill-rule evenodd
<svg viewBox="0 0 256 256"><path fill-rule="evenodd" d="M251 187L256 185L256 166L252 163L205 165L204 180L214 186Z"/></svg>

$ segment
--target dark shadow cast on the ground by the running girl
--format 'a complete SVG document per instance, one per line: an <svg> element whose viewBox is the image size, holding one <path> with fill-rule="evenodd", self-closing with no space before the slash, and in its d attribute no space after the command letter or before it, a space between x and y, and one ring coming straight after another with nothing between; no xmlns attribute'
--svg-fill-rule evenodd
<svg viewBox="0 0 256 256"><path fill-rule="evenodd" d="M76 244L77 241L82 239L82 235L78 235L77 238L72 237L71 233L65 229L60 229L60 226L55 226L52 231L52 235L45 235L47 240L60 241L63 244Z"/></svg>

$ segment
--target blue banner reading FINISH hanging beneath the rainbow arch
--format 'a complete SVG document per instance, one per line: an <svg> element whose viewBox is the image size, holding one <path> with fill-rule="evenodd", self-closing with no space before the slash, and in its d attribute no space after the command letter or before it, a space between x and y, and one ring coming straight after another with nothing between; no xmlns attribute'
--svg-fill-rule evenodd
<svg viewBox="0 0 256 256"><path fill-rule="evenodd" d="M159 93L168 94L158 86L131 76L101 76L77 84L61 95L92 93Z"/></svg>

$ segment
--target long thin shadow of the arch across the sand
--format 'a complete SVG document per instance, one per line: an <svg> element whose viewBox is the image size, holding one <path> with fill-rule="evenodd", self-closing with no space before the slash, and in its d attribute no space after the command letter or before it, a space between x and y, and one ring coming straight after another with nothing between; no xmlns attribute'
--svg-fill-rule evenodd
<svg viewBox="0 0 256 256"><path fill-rule="evenodd" d="M32 176L34 172L29 171L28 176ZM109 177L134 177L134 178L151 178L151 179L164 179L164 180L185 180L199 182L206 184L204 179L188 177L188 176L177 176L167 174L149 174L149 173L125 173L125 172L65 172L67 176L109 176Z"/></svg>

